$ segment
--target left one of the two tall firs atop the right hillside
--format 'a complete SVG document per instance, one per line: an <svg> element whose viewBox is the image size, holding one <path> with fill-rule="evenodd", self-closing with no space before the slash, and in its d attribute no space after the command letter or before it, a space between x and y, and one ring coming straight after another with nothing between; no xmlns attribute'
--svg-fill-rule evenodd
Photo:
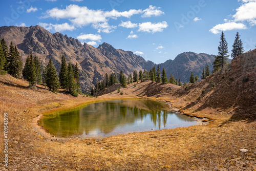
<svg viewBox="0 0 256 171"><path fill-rule="evenodd" d="M228 45L227 41L224 35L224 32L221 33L221 38L220 38L220 45L218 47L218 56L215 58L215 61L213 63L214 65L214 71L218 71L220 69L223 69L224 65L227 63L226 60L228 59L227 55L228 52Z"/></svg>

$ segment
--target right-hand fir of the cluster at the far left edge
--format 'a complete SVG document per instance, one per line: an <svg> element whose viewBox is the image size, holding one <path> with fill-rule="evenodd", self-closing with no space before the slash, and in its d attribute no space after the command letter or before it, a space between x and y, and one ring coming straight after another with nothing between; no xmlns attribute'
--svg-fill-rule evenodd
<svg viewBox="0 0 256 171"><path fill-rule="evenodd" d="M7 57L7 70L11 76L16 78L19 77L20 72L22 71L22 59L19 56L17 47L13 46L12 42Z"/></svg>

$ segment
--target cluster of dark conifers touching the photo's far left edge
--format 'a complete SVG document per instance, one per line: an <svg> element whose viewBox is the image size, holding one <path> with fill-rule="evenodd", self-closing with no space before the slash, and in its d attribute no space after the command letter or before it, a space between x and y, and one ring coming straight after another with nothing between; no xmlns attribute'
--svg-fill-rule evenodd
<svg viewBox="0 0 256 171"><path fill-rule="evenodd" d="M19 56L16 45L10 43L9 50L5 39L0 42L0 74L9 73L13 77L20 77L22 71L22 59Z"/></svg>

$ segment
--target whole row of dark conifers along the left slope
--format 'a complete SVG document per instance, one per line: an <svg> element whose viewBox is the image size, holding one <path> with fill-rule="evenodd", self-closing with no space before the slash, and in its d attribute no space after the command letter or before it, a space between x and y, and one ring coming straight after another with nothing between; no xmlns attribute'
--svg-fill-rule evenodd
<svg viewBox="0 0 256 171"><path fill-rule="evenodd" d="M79 71L78 66L72 66L71 63L67 66L65 56L61 58L61 68L59 77L56 69L50 59L45 69L42 69L40 60L32 53L27 57L24 69L22 69L22 60L15 45L10 43L9 50L5 39L0 41L0 74L9 73L11 76L22 77L29 82L29 87L35 87L41 82L45 83L50 91L57 92L61 87L69 91L73 96L81 94L79 86Z"/></svg>

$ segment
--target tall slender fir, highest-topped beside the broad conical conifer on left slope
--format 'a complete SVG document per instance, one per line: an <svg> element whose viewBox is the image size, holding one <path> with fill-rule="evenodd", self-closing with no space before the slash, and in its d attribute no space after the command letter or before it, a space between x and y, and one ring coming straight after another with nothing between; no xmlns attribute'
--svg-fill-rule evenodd
<svg viewBox="0 0 256 171"><path fill-rule="evenodd" d="M59 82L62 89L68 89L68 67L65 55L61 56L61 66L59 71Z"/></svg>

